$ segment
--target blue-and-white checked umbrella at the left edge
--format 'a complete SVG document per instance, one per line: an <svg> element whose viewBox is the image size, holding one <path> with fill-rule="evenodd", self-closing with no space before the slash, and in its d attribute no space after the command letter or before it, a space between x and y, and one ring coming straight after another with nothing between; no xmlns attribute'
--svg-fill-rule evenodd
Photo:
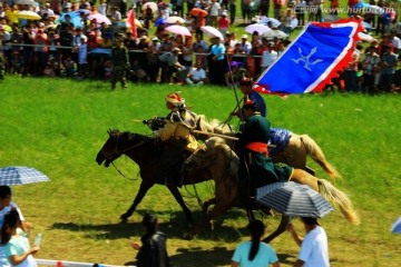
<svg viewBox="0 0 401 267"><path fill-rule="evenodd" d="M49 178L41 171L29 167L6 167L0 169L0 185L14 186L39 181L48 181Z"/></svg>

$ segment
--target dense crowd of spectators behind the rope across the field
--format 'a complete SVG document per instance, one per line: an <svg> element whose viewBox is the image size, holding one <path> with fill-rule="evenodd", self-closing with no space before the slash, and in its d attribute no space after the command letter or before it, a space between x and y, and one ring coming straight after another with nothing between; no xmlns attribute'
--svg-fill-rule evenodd
<svg viewBox="0 0 401 267"><path fill-rule="evenodd" d="M135 34L125 22L129 11L125 1L48 1L38 7L12 2L0 0L0 40L6 72L22 77L110 79L110 49L117 39L123 39L129 51L126 76L130 81L233 86L244 77L261 75L290 43L288 39L262 38L257 31L237 37L231 31L231 23L236 19L233 16L236 4L231 0L187 0L185 14L183 0L170 3L158 0L156 10L149 6L144 8L145 0L135 0L131 2L133 10L141 23ZM118 2L119 6L113 6ZM270 22L267 26L286 31L287 22L300 16L296 12L300 3L301 0L290 1L288 9L273 1L274 14L282 23L273 27ZM247 8L247 1L242 1L244 22L253 21L255 18L252 19L252 16L268 13L268 1L267 6L265 1L251 4L252 8ZM311 1L307 4L312 4ZM195 14L192 12L194 8L207 11L208 16ZM8 14L16 10L35 11L41 19L12 21ZM62 20L60 19L60 14L69 12L79 14L79 26L72 21L76 18L69 14L61 16ZM111 24L88 19L90 13L108 17ZM167 31L169 23L165 21L172 16L182 16L185 22L177 23L188 28L193 36L184 37ZM299 26L302 27L305 19L319 21L322 18L312 13L302 20L300 18ZM381 29L381 17L373 17L372 20L368 16L368 19L375 23L376 29ZM216 27L224 40L209 39L200 30L205 24ZM383 31L379 30L376 33L382 34L380 41L373 41L366 49L356 46L354 61L340 73L339 79L333 80L333 86L345 91L371 93L398 90L401 83L397 70L401 41L395 32L395 24L390 29L384 27Z"/></svg>

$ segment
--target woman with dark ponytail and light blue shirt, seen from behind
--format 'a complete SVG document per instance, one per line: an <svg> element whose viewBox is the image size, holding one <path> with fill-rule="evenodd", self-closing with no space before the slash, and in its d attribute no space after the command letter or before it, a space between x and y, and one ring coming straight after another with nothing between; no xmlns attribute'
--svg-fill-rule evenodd
<svg viewBox="0 0 401 267"><path fill-rule="evenodd" d="M248 224L251 241L241 243L234 251L232 267L273 266L280 267L277 255L274 249L261 241L265 226L261 220Z"/></svg>

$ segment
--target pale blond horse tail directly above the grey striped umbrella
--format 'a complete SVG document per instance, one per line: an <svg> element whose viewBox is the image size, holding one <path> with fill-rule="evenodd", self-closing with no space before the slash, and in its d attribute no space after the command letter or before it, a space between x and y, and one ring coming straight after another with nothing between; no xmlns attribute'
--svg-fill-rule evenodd
<svg viewBox="0 0 401 267"><path fill-rule="evenodd" d="M335 188L330 181L324 179L317 180L319 192L330 202L338 206L348 221L359 225L360 218L352 207L349 196Z"/></svg>

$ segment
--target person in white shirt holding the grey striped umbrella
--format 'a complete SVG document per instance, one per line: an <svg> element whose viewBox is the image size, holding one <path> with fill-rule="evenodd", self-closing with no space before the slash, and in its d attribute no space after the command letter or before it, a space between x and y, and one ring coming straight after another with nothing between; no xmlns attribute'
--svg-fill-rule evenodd
<svg viewBox="0 0 401 267"><path fill-rule="evenodd" d="M304 237L296 234L292 224L287 225L287 231L290 231L295 243L301 246L297 260L293 266L329 267L329 244L325 230L319 225L316 218L301 217L301 220L306 231Z"/></svg>

